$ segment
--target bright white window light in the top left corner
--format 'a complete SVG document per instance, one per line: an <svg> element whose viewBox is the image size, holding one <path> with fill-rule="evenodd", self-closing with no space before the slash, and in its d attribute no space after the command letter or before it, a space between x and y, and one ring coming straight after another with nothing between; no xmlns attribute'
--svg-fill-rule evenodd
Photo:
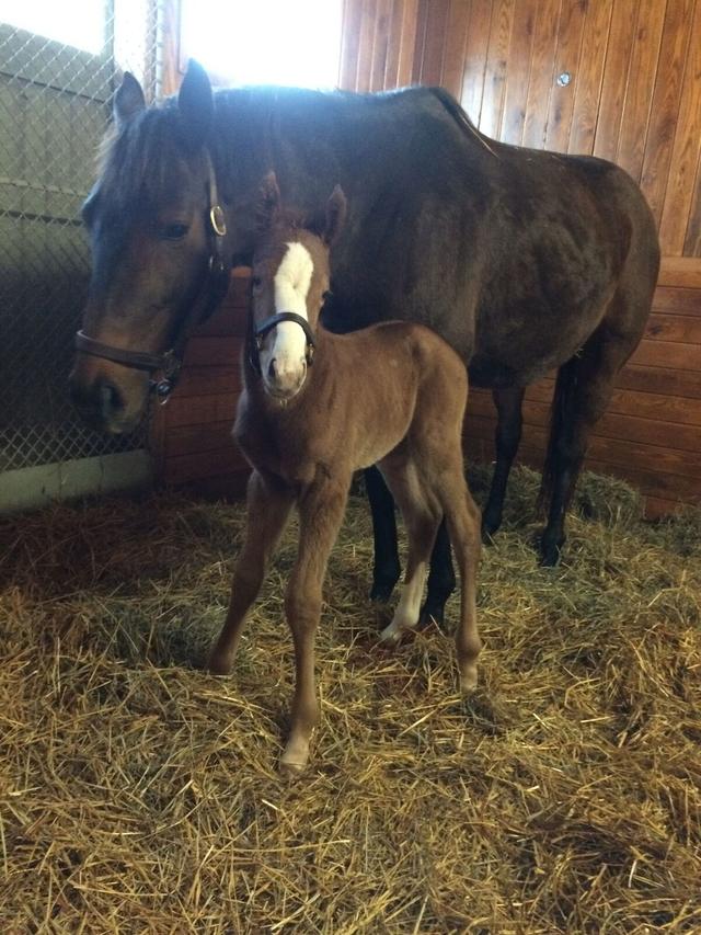
<svg viewBox="0 0 701 935"><path fill-rule="evenodd" d="M0 22L93 55L105 42L105 3L95 0L0 0Z"/></svg>

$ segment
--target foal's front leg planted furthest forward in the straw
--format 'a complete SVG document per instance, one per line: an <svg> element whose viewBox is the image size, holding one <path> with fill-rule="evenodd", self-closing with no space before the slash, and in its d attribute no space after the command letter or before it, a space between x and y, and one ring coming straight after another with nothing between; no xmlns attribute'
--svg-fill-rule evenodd
<svg viewBox="0 0 701 935"><path fill-rule="evenodd" d="M285 594L285 614L295 643L295 697L290 733L280 768L299 773L307 765L309 741L319 718L314 682L314 637L329 555L348 497L350 477L314 483L299 501L299 550Z"/></svg>

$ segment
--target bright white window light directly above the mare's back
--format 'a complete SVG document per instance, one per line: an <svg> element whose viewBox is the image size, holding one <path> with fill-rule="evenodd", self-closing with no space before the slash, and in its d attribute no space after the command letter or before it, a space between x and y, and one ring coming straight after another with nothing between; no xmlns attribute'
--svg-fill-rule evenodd
<svg viewBox="0 0 701 935"><path fill-rule="evenodd" d="M341 0L182 0L185 54L231 84L333 88Z"/></svg>

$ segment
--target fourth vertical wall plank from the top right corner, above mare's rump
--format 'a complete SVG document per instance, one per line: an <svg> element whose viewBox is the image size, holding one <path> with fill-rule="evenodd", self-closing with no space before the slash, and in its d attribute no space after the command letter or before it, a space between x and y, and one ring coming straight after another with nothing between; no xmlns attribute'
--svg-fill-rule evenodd
<svg viewBox="0 0 701 935"><path fill-rule="evenodd" d="M640 0L613 0L594 155L616 159Z"/></svg>

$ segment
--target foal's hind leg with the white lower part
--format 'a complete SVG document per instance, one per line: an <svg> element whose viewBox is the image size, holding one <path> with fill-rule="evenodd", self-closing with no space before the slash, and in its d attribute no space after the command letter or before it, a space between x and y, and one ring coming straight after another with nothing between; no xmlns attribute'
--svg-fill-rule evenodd
<svg viewBox="0 0 701 935"><path fill-rule="evenodd" d="M413 460L390 456L382 461L382 472L402 512L409 537L402 594L392 622L380 634L383 642L398 642L402 631L413 629L420 620L421 598L441 511Z"/></svg>

